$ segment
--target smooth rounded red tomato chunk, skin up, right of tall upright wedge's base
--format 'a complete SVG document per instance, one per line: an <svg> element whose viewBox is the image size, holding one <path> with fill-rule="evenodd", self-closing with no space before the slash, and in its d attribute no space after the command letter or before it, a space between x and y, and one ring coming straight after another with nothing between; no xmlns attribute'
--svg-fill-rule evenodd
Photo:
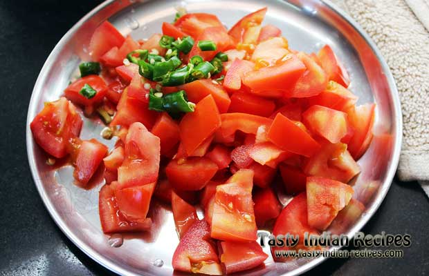
<svg viewBox="0 0 429 276"><path fill-rule="evenodd" d="M201 190L216 172L217 165L206 157L173 159L165 168L168 181L177 190Z"/></svg>

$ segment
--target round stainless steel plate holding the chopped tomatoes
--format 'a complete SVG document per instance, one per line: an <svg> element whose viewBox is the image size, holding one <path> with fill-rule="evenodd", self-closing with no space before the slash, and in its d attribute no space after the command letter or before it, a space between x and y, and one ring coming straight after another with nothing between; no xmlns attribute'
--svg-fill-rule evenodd
<svg viewBox="0 0 429 276"><path fill-rule="evenodd" d="M358 103L376 102L376 135L369 150L358 162L362 172L354 183L354 197L365 204L365 212L352 227L346 229L345 233L352 237L372 217L394 177L401 149L401 108L392 74L371 39L334 5L318 0L185 3L119 0L106 1L86 14L64 35L46 60L28 108L28 160L40 197L57 225L86 255L116 273L172 275L171 259L179 239L171 211L156 204L151 210L154 220L151 231L125 235L122 246L111 247L109 236L102 233L98 218L98 190L103 181L101 174L95 177L91 190L75 186L70 166L46 165L46 154L35 144L29 124L42 110L45 101L62 95L80 61L89 59L89 37L102 21L109 19L122 34L131 34L135 39L147 38L154 32L161 32L163 21L172 21L176 6L185 6L189 12L217 14L228 27L245 14L267 6L264 23L280 27L291 48L315 52L325 43L329 44L350 73L350 88L359 96ZM85 119L81 136L102 140L102 128L100 121ZM113 144L113 141L103 142L109 146ZM268 252L268 248L265 250ZM246 275L298 275L323 260L320 257L275 263L270 257L264 268L250 270Z"/></svg>

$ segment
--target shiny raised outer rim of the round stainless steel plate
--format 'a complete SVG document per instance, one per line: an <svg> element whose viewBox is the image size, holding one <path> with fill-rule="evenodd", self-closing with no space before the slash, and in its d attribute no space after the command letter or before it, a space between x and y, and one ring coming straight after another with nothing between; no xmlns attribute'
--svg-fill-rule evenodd
<svg viewBox="0 0 429 276"><path fill-rule="evenodd" d="M88 19L93 17L94 14L97 14L100 10L103 8L109 6L111 3L113 3L115 0L107 0L101 3L99 6L95 7L91 12L86 14L80 21L77 21L75 25L68 31L66 34L64 34L64 37L60 39L60 41L57 43L51 54L48 56L48 59L46 59L46 62L44 63L44 66L42 70L39 73L39 76L37 77L37 81L35 82L35 86L33 89L33 94L30 99L30 105L28 108L28 116L27 116L27 122L26 122L26 146L27 146L27 154L28 154L28 162L30 164L30 170L33 175L33 179L35 181L35 185L37 187L37 190L39 192L40 197L42 197L42 201L44 201L44 205L48 209L48 212L51 214L51 217L53 217L53 220L55 221L55 224L57 224L58 227L62 230L62 232L77 246L82 250L86 255L91 257L91 259L95 260L95 262L98 262L98 264L101 264L105 268L108 268L109 270L113 271L114 273L118 273L120 275L134 275L134 273L129 272L128 270L125 270L120 265L116 264L115 262L112 262L110 259L107 259L103 255L95 252L89 246L89 244L86 244L82 242L81 239L79 239L73 231L71 231L64 223L61 215L57 213L53 205L51 204L51 201L48 199L48 196L46 195L46 191L44 190L42 186L42 181L39 179L39 175L37 172L37 167L35 164L35 158L33 156L33 152L30 152L30 149L33 148L33 136L31 134L30 130L30 122L33 120L33 117L31 117L35 113L36 105L33 103L35 100L37 93L42 90L42 79L46 77L46 74L52 66L53 61L55 60L55 57L60 52L60 49L64 47L66 41L71 37L79 28L82 26ZM363 31L362 28L352 19L349 17L348 14L345 14L342 10L340 10L334 3L331 3L331 1L328 0L322 0L323 3L325 3L326 6L328 6L331 10L336 12L340 17L343 17L349 25L353 26L356 31L360 34L361 37L365 40L365 42L369 45L371 50L375 53L378 61L381 63L381 67L383 68L383 72L385 73L385 77L387 78L387 83L389 85L390 92L392 92L392 98L394 103L394 112L397 115L396 118L394 118L395 126L396 126L396 137L395 137L395 144L394 144L394 151L391 159L391 166L390 169L387 171L386 174L386 181L383 184L383 190L381 190L381 193L378 195L378 198L376 198L376 201L374 204L372 204L371 208L369 210L366 210L367 215L363 217L363 219L360 219L357 224L354 225L354 227L349 230L349 237L352 237L354 233L356 233L358 230L360 230L367 221L374 215L378 207L380 206L381 202L385 198L385 195L387 194L387 191L390 188L390 185L392 183L392 179L394 177L394 174L396 172L396 168L399 163L399 155L401 150L401 141L402 141L402 115L401 115L401 106L399 101L399 95L396 89L396 85L394 82L394 78L392 76L392 73L390 72L387 63L383 59L380 50L376 47L374 41L369 38L369 35L366 34L365 31ZM386 183L387 182L387 183ZM335 248L331 248L331 250L334 250ZM305 271L313 268L314 266L317 266L321 262L325 261L327 259L326 257L318 257L317 259L313 259L311 262L308 262L307 264L304 264L303 266L300 266L299 268L296 268L295 270L292 270L289 273L286 273L285 275L299 275L300 273L304 273Z"/></svg>

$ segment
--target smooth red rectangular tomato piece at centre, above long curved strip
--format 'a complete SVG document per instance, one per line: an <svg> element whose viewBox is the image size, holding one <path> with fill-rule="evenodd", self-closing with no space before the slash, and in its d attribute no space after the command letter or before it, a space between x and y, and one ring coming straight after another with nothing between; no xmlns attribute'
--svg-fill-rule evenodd
<svg viewBox="0 0 429 276"><path fill-rule="evenodd" d="M228 112L243 112L268 117L273 113L274 109L274 101L239 91L232 95Z"/></svg>

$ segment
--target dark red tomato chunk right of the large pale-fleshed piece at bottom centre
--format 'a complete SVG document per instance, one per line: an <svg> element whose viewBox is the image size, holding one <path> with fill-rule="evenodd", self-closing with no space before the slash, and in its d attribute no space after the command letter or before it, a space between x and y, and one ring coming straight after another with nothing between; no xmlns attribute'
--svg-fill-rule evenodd
<svg viewBox="0 0 429 276"><path fill-rule="evenodd" d="M271 188L259 190L253 196L253 201L255 201L253 208L255 209L256 224L259 227L265 226L267 221L278 217L282 210L279 199Z"/></svg>

